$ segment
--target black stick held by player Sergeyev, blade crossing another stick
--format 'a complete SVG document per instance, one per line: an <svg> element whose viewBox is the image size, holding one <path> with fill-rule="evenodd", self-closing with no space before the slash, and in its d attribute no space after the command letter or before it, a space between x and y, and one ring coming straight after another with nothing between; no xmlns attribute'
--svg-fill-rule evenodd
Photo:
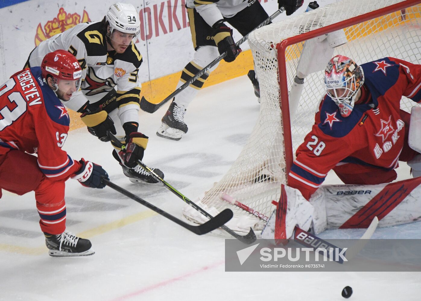
<svg viewBox="0 0 421 301"><path fill-rule="evenodd" d="M216 217L213 217L212 219L208 220L204 224L201 224L199 226L192 226L191 224L187 224L183 222L182 220L172 216L171 214L159 209L158 207L155 207L151 203L148 203L147 201L139 198L138 196L134 195L130 191L125 190L124 188L115 185L114 183L110 182L109 180L102 178L102 182L106 184L107 186L111 187L112 189L118 191L119 193L124 194L125 196L131 198L132 200L135 200L138 203L141 203L142 205L148 207L149 209L152 209L157 214L162 215L163 217L166 217L167 219L175 222L176 224L179 224L181 227L186 228L187 230L197 234L202 235L206 234L210 231L213 231L221 226L223 226L226 222L228 222L232 218L232 211L229 209L225 209L224 211L221 211L220 214L218 214Z"/></svg>

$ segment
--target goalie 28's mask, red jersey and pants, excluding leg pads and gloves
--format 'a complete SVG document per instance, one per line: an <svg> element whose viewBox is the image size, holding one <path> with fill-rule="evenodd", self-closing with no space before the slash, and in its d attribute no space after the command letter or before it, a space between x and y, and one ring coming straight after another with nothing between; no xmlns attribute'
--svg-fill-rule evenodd
<svg viewBox="0 0 421 301"><path fill-rule="evenodd" d="M345 184L380 184L396 179L398 161L420 175L420 154L408 145L410 114L402 96L421 101L421 65L380 58L358 66L343 55L325 70L327 94L315 124L296 151L288 185L306 199L330 169Z"/></svg>

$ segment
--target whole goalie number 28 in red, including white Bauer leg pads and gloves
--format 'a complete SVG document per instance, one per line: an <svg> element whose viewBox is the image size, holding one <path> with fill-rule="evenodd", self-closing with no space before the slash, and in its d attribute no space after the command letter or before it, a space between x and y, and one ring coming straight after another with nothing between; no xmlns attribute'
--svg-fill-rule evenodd
<svg viewBox="0 0 421 301"><path fill-rule="evenodd" d="M336 55L325 69L326 95L296 151L280 202L262 232L287 239L296 225L365 228L413 222L421 216L421 107L400 109L405 96L421 103L421 65L380 58L357 65ZM413 179L396 180L398 161ZM345 185L323 185L333 170ZM389 183L389 184L387 184Z"/></svg>

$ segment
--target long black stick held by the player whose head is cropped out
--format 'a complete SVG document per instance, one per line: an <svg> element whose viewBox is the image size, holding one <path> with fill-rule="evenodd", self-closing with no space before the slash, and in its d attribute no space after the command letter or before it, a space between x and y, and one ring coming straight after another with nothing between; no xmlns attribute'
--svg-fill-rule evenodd
<svg viewBox="0 0 421 301"><path fill-rule="evenodd" d="M276 18L280 13L283 13L284 11L285 11L285 8L281 7L280 9L278 9L277 11L275 11L271 16L269 16L269 18L267 18L260 25L258 25L255 29L258 29L260 27L263 27L263 26L269 24L274 18ZM255 30L255 29L253 29L253 30ZM242 37L237 43L235 43L235 45L236 46L239 46L242 43L244 43L247 40L249 34L250 33L248 33L244 37ZM226 55L227 55L226 52L224 52L221 55L219 55L216 59L214 59L212 62L210 62L208 64L208 66L206 66L205 68L203 68L202 70L200 70L199 72L197 72L197 74L195 74L194 77L192 77L187 82L185 82L184 84L182 84L177 90L175 90L170 95L168 95L167 98L165 98L164 100L162 100L160 103L156 103L156 104L155 103L150 103L148 100L146 100L146 98L142 98L140 100L140 108L143 111L145 111L145 112L154 113L155 111L157 111L157 109L159 109L165 103L167 103L168 100L171 100L174 96L176 96L182 90L184 90L185 88L187 88L187 86L189 86L190 84L192 84L192 82L195 82L199 77L201 77L203 74L205 74L206 72L208 72L210 68L212 68L217 63L219 63L219 61L221 61L223 58L225 58Z"/></svg>

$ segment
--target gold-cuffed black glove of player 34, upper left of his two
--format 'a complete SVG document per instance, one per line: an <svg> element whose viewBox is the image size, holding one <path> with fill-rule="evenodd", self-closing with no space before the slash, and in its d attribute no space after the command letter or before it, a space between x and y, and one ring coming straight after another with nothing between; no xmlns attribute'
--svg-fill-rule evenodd
<svg viewBox="0 0 421 301"><path fill-rule="evenodd" d="M107 131L112 132L114 135L117 133L114 127L114 121L112 121L106 111L83 113L80 115L80 119L88 127L88 132L98 137L101 141L109 141Z"/></svg>

